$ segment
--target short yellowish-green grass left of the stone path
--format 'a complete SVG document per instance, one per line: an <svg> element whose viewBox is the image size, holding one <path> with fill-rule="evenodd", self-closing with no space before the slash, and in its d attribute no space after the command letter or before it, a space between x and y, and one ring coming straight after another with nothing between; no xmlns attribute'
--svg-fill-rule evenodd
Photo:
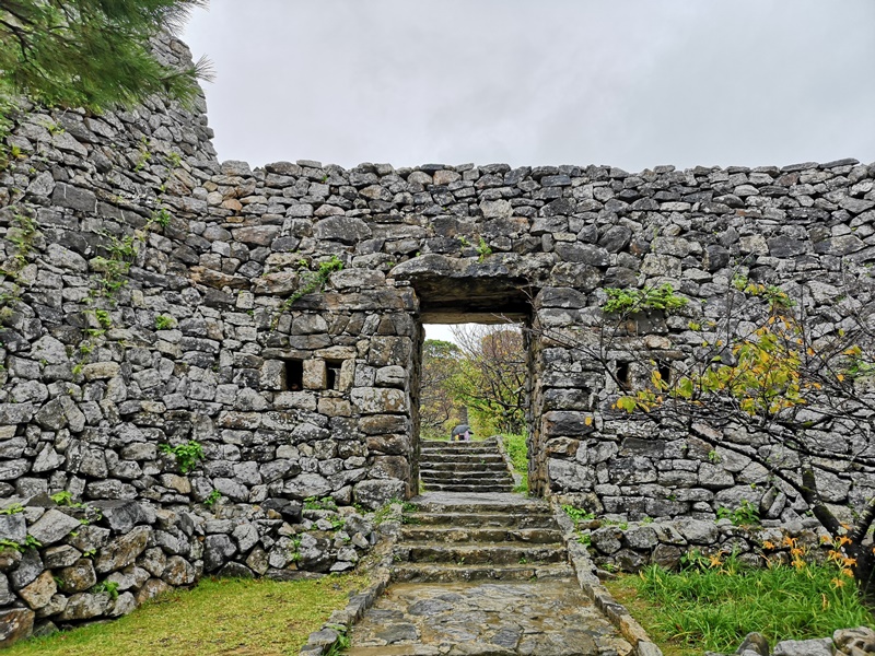
<svg viewBox="0 0 875 656"><path fill-rule="evenodd" d="M24 641L3 656L298 654L349 593L365 585L355 575L288 583L205 578L119 620Z"/></svg>

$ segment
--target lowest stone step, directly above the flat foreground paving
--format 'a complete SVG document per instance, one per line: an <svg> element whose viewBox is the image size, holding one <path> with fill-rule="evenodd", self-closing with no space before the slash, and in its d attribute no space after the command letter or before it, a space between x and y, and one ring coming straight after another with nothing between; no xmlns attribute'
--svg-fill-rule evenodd
<svg viewBox="0 0 875 656"><path fill-rule="evenodd" d="M469 581L532 581L568 579L572 582L574 570L567 563L532 563L508 565L450 564L450 563L396 563L392 567L392 579L405 583L454 583Z"/></svg>

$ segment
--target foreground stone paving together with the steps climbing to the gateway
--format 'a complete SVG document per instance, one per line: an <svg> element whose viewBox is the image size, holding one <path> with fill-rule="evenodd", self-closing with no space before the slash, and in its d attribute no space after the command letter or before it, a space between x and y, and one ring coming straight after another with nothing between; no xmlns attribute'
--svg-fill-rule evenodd
<svg viewBox="0 0 875 656"><path fill-rule="evenodd" d="M501 492L413 500L393 584L351 632L350 656L628 656L581 591L550 507Z"/></svg>

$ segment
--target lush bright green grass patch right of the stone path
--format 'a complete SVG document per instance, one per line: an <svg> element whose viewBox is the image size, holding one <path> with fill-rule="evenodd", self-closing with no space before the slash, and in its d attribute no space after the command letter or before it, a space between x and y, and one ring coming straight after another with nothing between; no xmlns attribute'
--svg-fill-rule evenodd
<svg viewBox="0 0 875 656"><path fill-rule="evenodd" d="M836 629L875 625L838 567L745 567L734 559L670 573L652 566L606 583L666 656L733 653L750 631L780 640L831 637Z"/></svg>

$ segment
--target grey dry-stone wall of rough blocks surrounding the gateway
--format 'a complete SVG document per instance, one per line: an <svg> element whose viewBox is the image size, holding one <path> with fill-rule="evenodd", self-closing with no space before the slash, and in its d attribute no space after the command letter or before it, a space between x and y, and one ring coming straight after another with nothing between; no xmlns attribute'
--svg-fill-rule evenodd
<svg viewBox="0 0 875 656"><path fill-rule="evenodd" d="M713 520L742 500L800 520L737 449L611 419L604 367L550 331L591 326L606 286L670 282L708 316L738 270L803 288L838 329L872 297L875 167L252 169L217 161L203 112L34 107L7 140L0 537L23 551L0 560L3 640L203 572L353 566L369 513L418 487L423 318L532 328L537 493L618 520ZM684 352L687 323L653 317L643 343ZM833 429L828 499L860 506L875 481Z"/></svg>

